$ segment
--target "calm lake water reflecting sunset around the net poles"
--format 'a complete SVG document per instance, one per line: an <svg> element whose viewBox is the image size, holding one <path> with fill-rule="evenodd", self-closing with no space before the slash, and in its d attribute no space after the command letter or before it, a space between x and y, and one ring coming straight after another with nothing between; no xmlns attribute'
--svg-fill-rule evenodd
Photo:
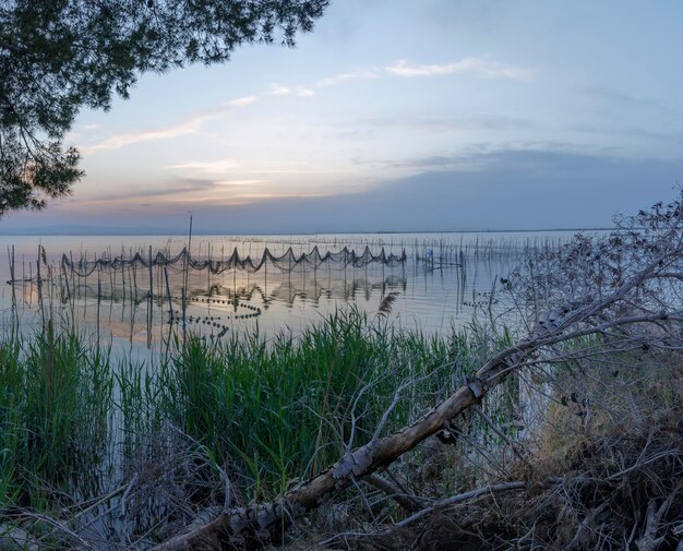
<svg viewBox="0 0 683 551"><path fill-rule="evenodd" d="M265 248L280 255L290 247L295 255L309 253L314 247L321 254L345 247L361 254L368 247L373 254L380 254L382 249L387 255L402 255L405 251L406 260L397 265L375 262L362 267L342 262L315 267L305 263L266 264L253 273L231 268L218 275L190 269L187 276L182 263L178 263L166 271L149 271L141 265L97 269L87 277L79 277L64 267L62 255L74 262L92 262L104 256L131 257L141 252L147 259L149 251L154 255L158 251L177 254L188 245L188 238L8 236L0 238L7 250L0 262L2 325L5 331L19 327L25 332L38 330L43 319L51 318L104 342L110 340L115 347L153 350L169 331L182 331L183 292L184 331L209 338L255 328L266 335L278 331L298 334L335 309L351 304L374 316L382 300L392 294L395 300L390 320L403 327L439 333L469 322L476 309L489 308L487 294L525 251L554 247L574 233L194 236L192 256L211 257L214 262L226 260L235 249L242 257L260 260ZM5 283L11 279L12 248L17 280L14 286ZM171 318L176 323L171 323Z"/></svg>

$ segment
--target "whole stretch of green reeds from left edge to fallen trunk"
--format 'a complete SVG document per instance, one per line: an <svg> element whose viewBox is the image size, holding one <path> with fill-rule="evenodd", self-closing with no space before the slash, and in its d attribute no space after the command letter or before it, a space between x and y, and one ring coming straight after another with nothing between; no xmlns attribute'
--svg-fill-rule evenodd
<svg viewBox="0 0 683 551"><path fill-rule="evenodd" d="M381 419L385 434L424 414L490 346L476 331L426 336L350 309L298 337L191 336L158 366L112 369L107 350L48 324L0 344L0 507L43 506L47 487L87 493L107 465L120 474L142 448L154 462L155 439L181 433L241 500L268 499L378 435Z"/></svg>

